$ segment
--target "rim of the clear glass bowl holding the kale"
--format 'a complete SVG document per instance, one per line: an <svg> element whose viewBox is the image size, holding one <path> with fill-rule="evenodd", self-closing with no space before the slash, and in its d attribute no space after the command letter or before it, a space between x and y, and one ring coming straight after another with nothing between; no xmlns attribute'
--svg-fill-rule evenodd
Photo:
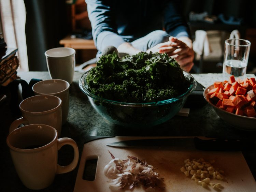
<svg viewBox="0 0 256 192"><path fill-rule="evenodd" d="M188 95L190 95L195 89L196 89L196 80L195 78L188 72L183 71L183 74L186 77L190 77L190 79L192 78L192 82L191 85L189 86L189 88L187 89L187 91L181 95L179 95L178 97L175 98L171 98L171 99L167 99L167 100L163 100L163 101L158 101L158 102L147 102L147 103L127 103L127 102L120 102L120 101L113 101L113 100L108 100L108 99L104 99L101 98L91 92L88 91L88 89L86 88L86 83L85 83L85 78L88 75L88 73L90 72L90 70L88 70L87 72L85 72L82 77L79 80L79 87L80 89L90 98L95 99L97 101L101 101L104 103L109 103L109 104L114 104L114 105L122 105L122 106L158 106L158 105L164 105L164 104L169 104L169 103L173 103L175 101L181 100L183 99L185 96L187 97Z"/></svg>

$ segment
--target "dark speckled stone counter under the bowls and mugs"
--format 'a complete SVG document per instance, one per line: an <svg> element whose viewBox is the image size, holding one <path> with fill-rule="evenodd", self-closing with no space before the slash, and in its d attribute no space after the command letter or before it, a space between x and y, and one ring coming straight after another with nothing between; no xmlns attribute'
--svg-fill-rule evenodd
<svg viewBox="0 0 256 192"><path fill-rule="evenodd" d="M62 126L60 137L74 139L81 155L83 143L89 135L114 135L114 136L207 136L226 138L251 138L256 132L243 131L231 127L220 119L213 108L206 104L200 108L190 108L188 117L175 116L169 121L152 128L132 129L125 128L108 122L101 117L90 105L87 96L79 88L79 80L83 72L75 72L73 83L70 86L70 108L67 122ZM222 81L222 74L192 74L203 86L207 87L214 81ZM19 72L18 76L29 82L31 78L49 79L48 72ZM247 74L248 77L255 77ZM1 122L1 172L4 179L1 181L1 191L32 191L23 186L12 164L9 149L5 143L8 127L15 119L8 114L2 115ZM256 126L256 125L255 125ZM256 176L256 151L243 152L244 157L254 175ZM59 164L67 165L72 161L73 151L69 146L64 146L59 151ZM53 184L40 191L73 191L77 169L70 173L56 175ZM85 190L86 191L86 190Z"/></svg>

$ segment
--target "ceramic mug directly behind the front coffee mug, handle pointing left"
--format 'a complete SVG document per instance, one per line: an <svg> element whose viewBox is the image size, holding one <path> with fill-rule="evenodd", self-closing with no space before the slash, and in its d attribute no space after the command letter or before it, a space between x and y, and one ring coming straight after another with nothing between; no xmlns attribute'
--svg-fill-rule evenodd
<svg viewBox="0 0 256 192"><path fill-rule="evenodd" d="M22 117L10 125L9 132L17 129L21 124L47 124L61 133L61 104L60 98L54 95L35 95L23 100L19 104Z"/></svg>

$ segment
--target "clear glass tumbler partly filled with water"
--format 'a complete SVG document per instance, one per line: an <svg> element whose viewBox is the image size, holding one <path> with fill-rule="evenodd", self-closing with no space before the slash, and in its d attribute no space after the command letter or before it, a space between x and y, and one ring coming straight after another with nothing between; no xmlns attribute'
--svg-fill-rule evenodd
<svg viewBox="0 0 256 192"><path fill-rule="evenodd" d="M224 45L223 80L231 75L243 79L250 53L251 42L244 39L227 39Z"/></svg>

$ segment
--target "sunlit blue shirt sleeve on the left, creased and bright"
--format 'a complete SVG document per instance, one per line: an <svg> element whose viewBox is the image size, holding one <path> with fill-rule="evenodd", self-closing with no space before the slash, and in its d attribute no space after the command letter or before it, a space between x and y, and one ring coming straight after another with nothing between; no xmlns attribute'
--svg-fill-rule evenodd
<svg viewBox="0 0 256 192"><path fill-rule="evenodd" d="M88 16L91 22L92 34L95 45L99 51L106 46L116 48L124 43L124 39L118 35L111 10L111 0L85 0L87 3Z"/></svg>

